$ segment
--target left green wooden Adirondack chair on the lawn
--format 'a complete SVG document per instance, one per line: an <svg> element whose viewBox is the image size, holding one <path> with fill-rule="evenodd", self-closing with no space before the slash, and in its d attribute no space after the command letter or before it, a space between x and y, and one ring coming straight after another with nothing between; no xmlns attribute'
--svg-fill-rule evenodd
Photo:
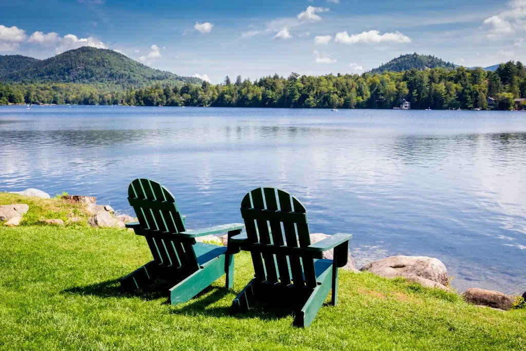
<svg viewBox="0 0 526 351"><path fill-rule="evenodd" d="M121 279L125 289L138 289L161 278L174 282L169 289L172 305L183 303L199 294L226 273L226 287L234 279L234 255L225 246L197 243L196 237L228 233L228 238L241 233L245 225L232 223L199 230L186 230L174 195L149 179L135 179L128 187L128 202L138 222L126 224L135 234L146 237L153 260Z"/></svg>

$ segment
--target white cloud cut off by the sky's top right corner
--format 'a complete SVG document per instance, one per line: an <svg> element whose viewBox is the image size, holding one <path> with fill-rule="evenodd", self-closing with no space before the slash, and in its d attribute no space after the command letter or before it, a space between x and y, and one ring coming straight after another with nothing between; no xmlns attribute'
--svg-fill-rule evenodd
<svg viewBox="0 0 526 351"><path fill-rule="evenodd" d="M484 19L483 23L489 27L488 37L526 30L526 0L512 0L508 6L511 8L508 11Z"/></svg>

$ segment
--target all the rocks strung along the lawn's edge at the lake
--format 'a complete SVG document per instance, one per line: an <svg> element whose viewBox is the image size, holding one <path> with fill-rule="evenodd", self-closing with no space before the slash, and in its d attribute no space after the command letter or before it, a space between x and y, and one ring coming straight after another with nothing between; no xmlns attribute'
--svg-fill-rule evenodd
<svg viewBox="0 0 526 351"><path fill-rule="evenodd" d="M42 199L50 199L51 197L38 189L26 189L23 192L11 192L23 196L33 196ZM65 202L83 206L84 212L89 215L87 220L88 225L97 228L122 228L125 229L125 224L134 222L133 218L126 214L117 214L115 210L109 205L96 205L96 198L92 196L79 195L64 195L62 199ZM24 215L28 212L29 205L27 204L10 204L0 206L0 221L4 222L4 226L18 226L21 224ZM58 218L42 218L40 223L45 225L64 226L76 222L82 222L80 217L69 217L67 223ZM311 242L316 243L328 235L322 233L311 234ZM227 245L227 236L208 235L200 237L200 242L217 242L222 245ZM332 259L332 250L323 253L323 258ZM450 277L446 266L441 260L433 257L424 256L391 256L382 258L371 262L360 269L357 269L355 260L349 253L348 263L342 269L359 274L361 272L370 272L386 278L405 278L412 283L419 284L424 287L438 288L447 292L454 292L449 285ZM484 290L480 288L469 288L462 294L466 302L480 307L489 307L498 310L509 310L514 307L524 307L524 300L526 299L526 292L521 296L506 295L494 290Z"/></svg>

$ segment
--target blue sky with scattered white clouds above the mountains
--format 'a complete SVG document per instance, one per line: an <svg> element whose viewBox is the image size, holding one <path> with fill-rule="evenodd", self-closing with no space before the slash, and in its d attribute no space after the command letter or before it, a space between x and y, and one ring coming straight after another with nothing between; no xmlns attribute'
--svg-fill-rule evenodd
<svg viewBox="0 0 526 351"><path fill-rule="evenodd" d="M526 61L526 0L0 0L0 54L108 48L220 83L361 73L417 52L467 67Z"/></svg>

